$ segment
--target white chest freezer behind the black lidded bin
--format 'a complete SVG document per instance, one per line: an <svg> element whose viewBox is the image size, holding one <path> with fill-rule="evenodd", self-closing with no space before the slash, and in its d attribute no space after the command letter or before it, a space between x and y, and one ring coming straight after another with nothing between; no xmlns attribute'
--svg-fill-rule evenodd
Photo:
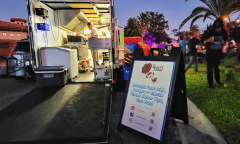
<svg viewBox="0 0 240 144"><path fill-rule="evenodd" d="M44 47L40 49L42 66L66 66L68 79L78 76L77 50L60 47Z"/></svg>

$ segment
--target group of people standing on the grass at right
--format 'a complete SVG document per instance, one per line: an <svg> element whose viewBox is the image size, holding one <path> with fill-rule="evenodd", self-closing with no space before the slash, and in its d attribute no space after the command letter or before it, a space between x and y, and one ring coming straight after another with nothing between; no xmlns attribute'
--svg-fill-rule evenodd
<svg viewBox="0 0 240 144"><path fill-rule="evenodd" d="M219 64L223 58L227 83L232 83L234 87L236 87L234 78L234 66L238 64L236 43L233 37L230 36L227 30L224 28L224 23L222 19L217 19L214 21L212 30L207 34L207 36L205 36L204 38L202 37L202 44L199 40L198 31L190 33L189 36L190 37L188 42L183 39L183 36L181 36L181 41L178 43L178 46L182 47L183 49L184 63L186 64L187 52L190 59L185 67L185 73L193 64L195 64L195 72L198 72L197 48L199 48L200 45L204 45L206 48L207 81L209 87L214 87L213 73L217 84L223 85L220 80L219 71ZM224 46L226 46L226 48L223 51ZM224 57L223 53L225 53ZM225 86L227 86L227 83L225 84Z"/></svg>

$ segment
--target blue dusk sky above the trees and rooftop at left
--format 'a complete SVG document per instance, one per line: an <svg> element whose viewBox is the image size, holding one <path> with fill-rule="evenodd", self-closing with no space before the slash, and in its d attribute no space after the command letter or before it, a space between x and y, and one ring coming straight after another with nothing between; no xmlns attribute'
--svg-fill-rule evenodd
<svg viewBox="0 0 240 144"><path fill-rule="evenodd" d="M13 17L27 19L26 0L0 0L0 20L9 21ZM129 17L137 17L139 13L154 11L163 13L169 22L170 30L178 29L180 23L190 15L191 11L197 6L204 6L199 0L115 0L115 13L118 18L119 26L125 26ZM232 18L235 19L238 14ZM200 28L205 28L212 20L200 19L195 22ZM190 21L184 25L182 30L189 30Z"/></svg>

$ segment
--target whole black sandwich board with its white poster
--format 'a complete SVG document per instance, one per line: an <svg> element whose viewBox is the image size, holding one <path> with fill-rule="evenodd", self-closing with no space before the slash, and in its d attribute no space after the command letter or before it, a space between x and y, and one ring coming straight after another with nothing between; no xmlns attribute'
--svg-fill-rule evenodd
<svg viewBox="0 0 240 144"><path fill-rule="evenodd" d="M170 116L188 123L185 74L180 48L169 57L160 56L160 49L155 49L158 56L151 56L153 50L149 56L142 49L134 52L118 130L164 143ZM184 80L177 78L179 73Z"/></svg>

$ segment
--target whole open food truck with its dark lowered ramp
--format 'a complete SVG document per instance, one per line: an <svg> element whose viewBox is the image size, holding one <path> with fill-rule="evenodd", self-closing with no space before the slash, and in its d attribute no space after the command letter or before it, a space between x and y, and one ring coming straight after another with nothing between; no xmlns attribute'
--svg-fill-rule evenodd
<svg viewBox="0 0 240 144"><path fill-rule="evenodd" d="M0 112L0 143L107 143L124 65L114 1L26 2L37 87Z"/></svg>

